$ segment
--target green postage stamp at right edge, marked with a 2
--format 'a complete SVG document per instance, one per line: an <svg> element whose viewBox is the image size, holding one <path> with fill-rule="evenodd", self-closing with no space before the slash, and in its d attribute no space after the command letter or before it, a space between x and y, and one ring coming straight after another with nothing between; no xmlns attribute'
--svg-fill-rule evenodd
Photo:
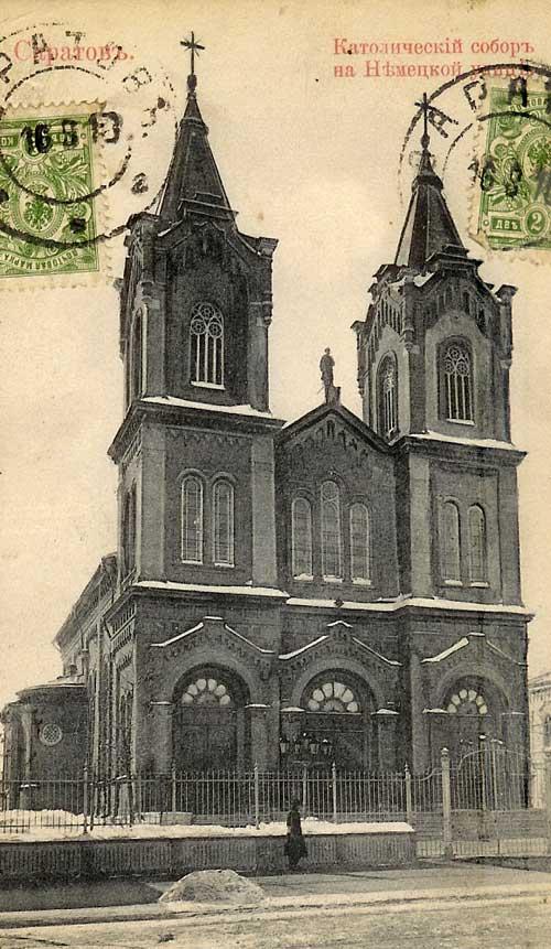
<svg viewBox="0 0 551 949"><path fill-rule="evenodd" d="M475 163L476 239L496 250L551 247L551 115L548 91L489 90L486 144Z"/></svg>

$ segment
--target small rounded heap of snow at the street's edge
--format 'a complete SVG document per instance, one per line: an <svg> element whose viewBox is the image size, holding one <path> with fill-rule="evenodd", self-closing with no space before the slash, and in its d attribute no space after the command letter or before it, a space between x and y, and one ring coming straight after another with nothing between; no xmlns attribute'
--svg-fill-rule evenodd
<svg viewBox="0 0 551 949"><path fill-rule="evenodd" d="M264 893L239 876L235 870L195 870L188 873L159 897L159 903L235 903L251 906L261 903Z"/></svg>

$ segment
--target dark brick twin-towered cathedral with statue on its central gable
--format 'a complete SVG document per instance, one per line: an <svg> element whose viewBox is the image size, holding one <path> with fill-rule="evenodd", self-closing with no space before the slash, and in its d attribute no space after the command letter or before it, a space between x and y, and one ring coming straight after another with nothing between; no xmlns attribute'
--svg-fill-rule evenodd
<svg viewBox="0 0 551 949"><path fill-rule="evenodd" d="M252 130L250 130L252 133ZM196 76L120 280L118 550L3 711L6 774L425 772L527 747L509 369L515 288L469 258L426 128L392 263L353 325L363 418L270 412L277 240L242 234ZM276 301L277 319L277 301ZM314 319L314 317L312 317Z"/></svg>

